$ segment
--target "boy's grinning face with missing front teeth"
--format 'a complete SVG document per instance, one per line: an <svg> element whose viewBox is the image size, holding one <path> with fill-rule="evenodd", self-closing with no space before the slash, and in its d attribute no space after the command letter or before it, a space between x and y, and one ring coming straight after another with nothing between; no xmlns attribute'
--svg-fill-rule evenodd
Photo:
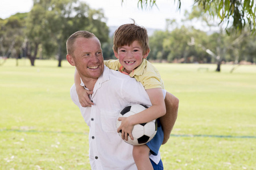
<svg viewBox="0 0 256 170"><path fill-rule="evenodd" d="M118 47L117 52L114 52L115 57L119 59L119 62L125 67L126 73L131 73L139 65L141 65L143 58L147 58L148 52L143 55L143 49L138 41L134 41L130 46L125 45Z"/></svg>

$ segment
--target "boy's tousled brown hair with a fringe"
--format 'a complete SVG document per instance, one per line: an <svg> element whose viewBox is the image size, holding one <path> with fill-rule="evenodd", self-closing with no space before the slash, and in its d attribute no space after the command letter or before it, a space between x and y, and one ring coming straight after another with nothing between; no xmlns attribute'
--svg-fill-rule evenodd
<svg viewBox="0 0 256 170"><path fill-rule="evenodd" d="M142 46L143 55L147 52L149 48L147 29L135 24L123 24L114 33L113 39L113 50L117 52L118 47L131 45L134 41L138 41Z"/></svg>

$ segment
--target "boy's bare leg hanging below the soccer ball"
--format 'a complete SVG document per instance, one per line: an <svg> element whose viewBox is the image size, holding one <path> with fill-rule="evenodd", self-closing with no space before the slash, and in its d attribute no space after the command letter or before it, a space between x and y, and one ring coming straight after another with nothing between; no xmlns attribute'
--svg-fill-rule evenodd
<svg viewBox="0 0 256 170"><path fill-rule="evenodd" d="M133 146L133 159L138 170L153 170L149 159L150 148L147 145Z"/></svg>

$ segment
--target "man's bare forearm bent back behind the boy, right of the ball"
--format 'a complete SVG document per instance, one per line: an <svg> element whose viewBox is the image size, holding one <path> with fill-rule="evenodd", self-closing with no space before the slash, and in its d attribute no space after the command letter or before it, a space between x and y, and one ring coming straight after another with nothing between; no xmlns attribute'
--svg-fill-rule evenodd
<svg viewBox="0 0 256 170"><path fill-rule="evenodd" d="M170 138L172 128L174 128L175 121L177 119L177 111L179 108L179 99L170 92L166 92L166 98L164 99L166 104L166 114L160 117L162 129L164 132L164 139L162 145L164 145Z"/></svg>

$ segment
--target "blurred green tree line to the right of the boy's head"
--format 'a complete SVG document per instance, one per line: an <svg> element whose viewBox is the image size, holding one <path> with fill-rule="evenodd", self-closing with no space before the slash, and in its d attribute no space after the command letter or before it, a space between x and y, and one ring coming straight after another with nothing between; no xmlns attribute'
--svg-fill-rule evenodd
<svg viewBox="0 0 256 170"><path fill-rule="evenodd" d="M197 12L199 11L195 8L188 18L194 18ZM249 28L244 28L240 34L228 35L221 29L218 32L207 33L183 25L172 31L155 31L150 36L149 45L150 60L164 59L168 62L183 63L256 61L255 36L250 34Z"/></svg>

